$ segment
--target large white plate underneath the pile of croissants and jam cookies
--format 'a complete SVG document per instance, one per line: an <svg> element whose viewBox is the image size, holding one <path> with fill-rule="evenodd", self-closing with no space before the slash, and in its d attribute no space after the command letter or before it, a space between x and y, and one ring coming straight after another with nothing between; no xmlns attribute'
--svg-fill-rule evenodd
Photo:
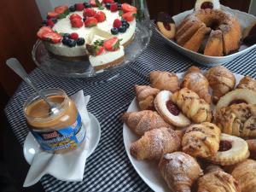
<svg viewBox="0 0 256 192"><path fill-rule="evenodd" d="M183 78L184 73L177 73L178 79ZM236 76L236 84L243 78L240 74L235 74ZM127 112L138 111L136 99L133 99ZM137 171L137 174L142 177L143 181L148 184L148 186L153 189L155 192L169 192L166 182L161 177L158 162L150 162L149 160L136 160L130 154L130 146L131 143L137 141L139 137L135 135L127 125L123 125L123 137L125 143L125 151L131 161L132 166Z"/></svg>

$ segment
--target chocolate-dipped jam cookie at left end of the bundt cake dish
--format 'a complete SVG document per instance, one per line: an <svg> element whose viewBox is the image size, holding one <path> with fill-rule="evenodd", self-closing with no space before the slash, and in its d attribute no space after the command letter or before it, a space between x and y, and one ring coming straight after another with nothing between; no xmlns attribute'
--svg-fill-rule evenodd
<svg viewBox="0 0 256 192"><path fill-rule="evenodd" d="M172 17L164 12L157 15L156 26L166 38L174 38L176 26Z"/></svg>

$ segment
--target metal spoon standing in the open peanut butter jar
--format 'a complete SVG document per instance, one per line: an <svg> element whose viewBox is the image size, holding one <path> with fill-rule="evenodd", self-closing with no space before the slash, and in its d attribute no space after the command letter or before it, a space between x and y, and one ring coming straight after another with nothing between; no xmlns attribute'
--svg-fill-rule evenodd
<svg viewBox="0 0 256 192"><path fill-rule="evenodd" d="M54 102L50 102L47 96L44 96L44 94L38 90L35 84L32 83L31 79L28 78L28 75L25 71L25 69L20 64L20 61L18 61L16 58L9 58L6 61L6 64L8 67L10 67L16 74L20 76L21 79L23 79L26 84L29 84L33 90L35 90L38 93L38 96L40 96L42 99L44 99L44 102L47 103L49 106L49 113L55 114L59 112L59 109L57 108L57 105Z"/></svg>

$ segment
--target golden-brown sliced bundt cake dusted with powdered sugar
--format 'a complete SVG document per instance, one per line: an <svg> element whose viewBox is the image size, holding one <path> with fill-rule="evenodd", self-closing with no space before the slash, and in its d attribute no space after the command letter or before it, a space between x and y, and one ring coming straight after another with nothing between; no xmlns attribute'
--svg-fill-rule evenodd
<svg viewBox="0 0 256 192"><path fill-rule="evenodd" d="M218 9L200 9L183 19L177 26L175 38L177 44L197 52L203 40L196 36L204 36L203 40L208 38L207 44L203 46L203 54L228 55L240 47L241 26L231 14Z"/></svg>

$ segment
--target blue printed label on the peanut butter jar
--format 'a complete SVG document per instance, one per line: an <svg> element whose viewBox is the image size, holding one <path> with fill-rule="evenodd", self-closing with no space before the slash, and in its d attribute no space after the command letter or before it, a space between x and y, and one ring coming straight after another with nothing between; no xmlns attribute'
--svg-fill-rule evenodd
<svg viewBox="0 0 256 192"><path fill-rule="evenodd" d="M76 148L84 141L85 129L82 126L81 116L73 125L52 131L32 130L32 135L37 139L41 148L45 151L55 151L65 148Z"/></svg>

